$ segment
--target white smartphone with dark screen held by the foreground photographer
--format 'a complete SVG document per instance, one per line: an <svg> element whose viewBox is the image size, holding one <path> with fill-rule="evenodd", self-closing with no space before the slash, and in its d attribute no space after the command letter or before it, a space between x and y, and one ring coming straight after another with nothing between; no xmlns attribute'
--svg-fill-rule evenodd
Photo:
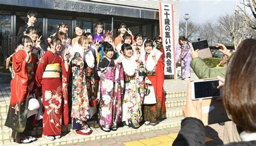
<svg viewBox="0 0 256 146"><path fill-rule="evenodd" d="M192 100L216 98L222 96L222 90L217 89L221 82L218 79L203 79L191 81Z"/></svg>

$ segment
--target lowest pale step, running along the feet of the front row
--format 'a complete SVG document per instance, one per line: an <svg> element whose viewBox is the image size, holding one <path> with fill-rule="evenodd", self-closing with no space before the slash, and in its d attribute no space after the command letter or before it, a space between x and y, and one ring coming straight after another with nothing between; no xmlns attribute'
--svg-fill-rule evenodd
<svg viewBox="0 0 256 146"><path fill-rule="evenodd" d="M65 145L65 144L72 144L72 143L78 143L78 142L85 142L85 141L92 141L92 140L99 140L102 138L109 138L109 137L116 137L116 136L122 136L122 135L128 135L128 134L135 134L135 133L143 133L143 132L148 132L150 130L158 130L158 129L166 129L166 128L177 128L180 127L181 120L184 119L184 116L179 116L177 118L173 119L165 119L161 121L158 125L156 126L141 126L138 129L133 129L133 128L126 128L126 127L121 127L118 128L116 131L111 131L109 133L103 132L100 130L100 128L92 128L93 132L91 135L78 135L75 133L74 130L71 130L69 133L65 133L62 138L59 140L55 141L48 141L45 140L44 138L38 138L37 141L33 143L29 143L26 145ZM0 141L0 145L20 145L17 143L12 142L12 140L2 140Z"/></svg>

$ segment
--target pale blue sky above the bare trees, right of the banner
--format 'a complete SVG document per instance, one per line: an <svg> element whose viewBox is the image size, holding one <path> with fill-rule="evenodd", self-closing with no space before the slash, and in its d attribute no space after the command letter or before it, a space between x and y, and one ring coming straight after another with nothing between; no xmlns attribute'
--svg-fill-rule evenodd
<svg viewBox="0 0 256 146"><path fill-rule="evenodd" d="M215 22L223 14L232 14L236 3L239 0L180 0L180 19L188 13L195 23Z"/></svg>

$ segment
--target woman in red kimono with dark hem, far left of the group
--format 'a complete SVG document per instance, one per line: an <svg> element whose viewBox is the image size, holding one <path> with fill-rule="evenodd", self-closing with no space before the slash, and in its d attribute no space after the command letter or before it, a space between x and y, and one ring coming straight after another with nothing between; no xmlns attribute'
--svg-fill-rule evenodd
<svg viewBox="0 0 256 146"><path fill-rule="evenodd" d="M15 71L11 80L11 101L5 126L12 128L11 137L17 143L29 143L36 138L31 137L29 132L33 129L33 118L28 118L29 95L34 92L35 72L37 63L31 55L32 40L28 36L23 36L23 48L18 50L12 58Z"/></svg>

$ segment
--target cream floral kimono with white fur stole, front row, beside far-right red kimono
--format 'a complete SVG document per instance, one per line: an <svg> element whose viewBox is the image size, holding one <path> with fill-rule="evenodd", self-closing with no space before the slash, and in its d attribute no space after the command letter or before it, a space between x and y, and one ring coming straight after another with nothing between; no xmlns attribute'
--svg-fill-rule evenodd
<svg viewBox="0 0 256 146"><path fill-rule="evenodd" d="M123 68L123 69L122 69ZM122 121L124 125L138 128L142 121L142 101L144 98L144 66L138 70L134 57L123 59L121 69L124 70L124 94L122 104Z"/></svg>

